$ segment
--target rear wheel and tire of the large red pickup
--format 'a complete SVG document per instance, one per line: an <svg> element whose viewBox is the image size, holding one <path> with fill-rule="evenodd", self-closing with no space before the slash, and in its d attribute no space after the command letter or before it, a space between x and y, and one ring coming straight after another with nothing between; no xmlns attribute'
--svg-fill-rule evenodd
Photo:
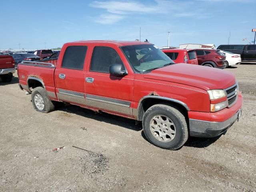
<svg viewBox="0 0 256 192"><path fill-rule="evenodd" d="M31 94L32 104L38 112L48 113L54 110L53 102L48 98L46 90L42 87L36 87Z"/></svg>

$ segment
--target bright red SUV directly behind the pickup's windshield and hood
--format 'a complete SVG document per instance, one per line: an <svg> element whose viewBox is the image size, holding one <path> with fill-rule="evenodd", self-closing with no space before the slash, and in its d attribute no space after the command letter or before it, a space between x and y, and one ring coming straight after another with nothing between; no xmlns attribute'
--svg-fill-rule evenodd
<svg viewBox="0 0 256 192"><path fill-rule="evenodd" d="M198 65L194 49L162 49L175 63L188 63Z"/></svg>

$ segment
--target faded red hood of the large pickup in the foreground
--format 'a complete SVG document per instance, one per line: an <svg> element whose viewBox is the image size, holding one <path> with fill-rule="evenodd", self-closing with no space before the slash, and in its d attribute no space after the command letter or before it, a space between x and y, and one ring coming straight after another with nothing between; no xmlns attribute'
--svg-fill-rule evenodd
<svg viewBox="0 0 256 192"><path fill-rule="evenodd" d="M144 78L190 85L204 90L225 89L236 83L232 72L212 67L173 64L152 70Z"/></svg>

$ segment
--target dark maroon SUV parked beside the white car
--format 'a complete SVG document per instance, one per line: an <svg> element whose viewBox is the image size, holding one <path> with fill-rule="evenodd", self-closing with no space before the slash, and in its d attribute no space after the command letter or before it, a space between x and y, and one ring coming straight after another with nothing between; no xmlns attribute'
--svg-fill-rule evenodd
<svg viewBox="0 0 256 192"><path fill-rule="evenodd" d="M196 49L198 65L224 69L226 56L220 50Z"/></svg>

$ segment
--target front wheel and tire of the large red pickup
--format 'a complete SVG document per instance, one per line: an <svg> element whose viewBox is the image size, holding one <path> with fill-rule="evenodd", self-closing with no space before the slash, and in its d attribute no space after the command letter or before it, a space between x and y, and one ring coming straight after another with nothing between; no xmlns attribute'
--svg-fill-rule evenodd
<svg viewBox="0 0 256 192"><path fill-rule="evenodd" d="M149 142L160 148L176 150L188 140L186 118L176 106L151 106L143 116L142 127Z"/></svg>

